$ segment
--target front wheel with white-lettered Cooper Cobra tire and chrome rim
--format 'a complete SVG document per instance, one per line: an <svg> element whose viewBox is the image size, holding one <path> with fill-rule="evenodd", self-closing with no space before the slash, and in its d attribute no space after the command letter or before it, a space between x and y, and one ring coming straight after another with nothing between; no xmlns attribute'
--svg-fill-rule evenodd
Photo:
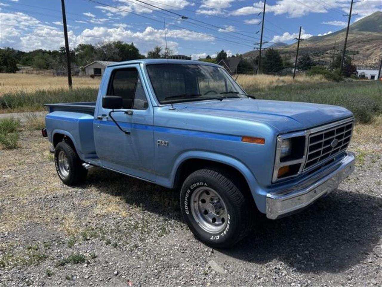
<svg viewBox="0 0 382 287"><path fill-rule="evenodd" d="M226 248L249 231L253 216L244 188L229 173L207 168L190 174L180 192L183 216L194 236L215 248Z"/></svg>

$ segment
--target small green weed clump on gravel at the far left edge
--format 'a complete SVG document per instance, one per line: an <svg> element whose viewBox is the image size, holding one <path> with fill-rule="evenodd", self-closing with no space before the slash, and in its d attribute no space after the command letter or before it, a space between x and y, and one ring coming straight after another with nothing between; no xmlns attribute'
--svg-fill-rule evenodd
<svg viewBox="0 0 382 287"><path fill-rule="evenodd" d="M19 140L20 120L13 117L0 120L0 143L3 148L17 147Z"/></svg>

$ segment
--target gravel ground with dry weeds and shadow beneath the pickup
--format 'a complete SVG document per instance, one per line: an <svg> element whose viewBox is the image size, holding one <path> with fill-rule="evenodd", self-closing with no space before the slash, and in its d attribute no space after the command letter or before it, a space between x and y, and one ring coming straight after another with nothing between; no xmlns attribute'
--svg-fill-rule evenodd
<svg viewBox="0 0 382 287"><path fill-rule="evenodd" d="M175 191L99 168L65 186L49 146L23 130L1 151L1 285L382 285L378 143L352 144L337 191L227 250L193 237Z"/></svg>

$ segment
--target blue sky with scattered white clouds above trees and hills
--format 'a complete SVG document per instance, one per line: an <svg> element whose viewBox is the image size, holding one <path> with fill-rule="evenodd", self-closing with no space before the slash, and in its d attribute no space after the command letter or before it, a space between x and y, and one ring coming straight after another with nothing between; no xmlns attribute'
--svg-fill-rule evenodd
<svg viewBox="0 0 382 287"><path fill-rule="evenodd" d="M355 3L351 23L381 11L381 3ZM253 0L65 0L70 49L120 40L146 55L167 38L174 54L193 59L259 47L263 7ZM349 9L349 0L268 0L264 46L293 43L299 26L303 39L333 33L346 26ZM61 1L0 0L0 46L26 52L64 46Z"/></svg>

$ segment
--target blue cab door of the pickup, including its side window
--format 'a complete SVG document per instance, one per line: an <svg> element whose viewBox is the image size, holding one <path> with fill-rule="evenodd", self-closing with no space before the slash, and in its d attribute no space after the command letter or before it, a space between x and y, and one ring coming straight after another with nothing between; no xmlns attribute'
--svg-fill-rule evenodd
<svg viewBox="0 0 382 287"><path fill-rule="evenodd" d="M110 109L98 109L95 119L95 146L105 168L155 181L153 111L139 65L116 67L110 74L108 96L121 96L123 108L112 113L121 132L108 116Z"/></svg>

